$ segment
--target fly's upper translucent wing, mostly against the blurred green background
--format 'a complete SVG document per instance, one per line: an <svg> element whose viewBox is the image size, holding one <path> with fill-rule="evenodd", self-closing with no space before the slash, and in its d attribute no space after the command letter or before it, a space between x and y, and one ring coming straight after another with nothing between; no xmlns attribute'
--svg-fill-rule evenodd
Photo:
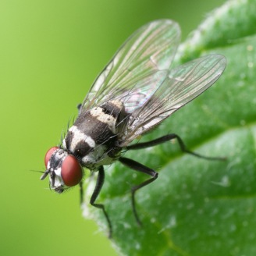
<svg viewBox="0 0 256 256"><path fill-rule="evenodd" d="M81 111L113 99L121 99L129 113L144 105L167 76L179 42L180 27L172 20L141 27L95 80Z"/></svg>

